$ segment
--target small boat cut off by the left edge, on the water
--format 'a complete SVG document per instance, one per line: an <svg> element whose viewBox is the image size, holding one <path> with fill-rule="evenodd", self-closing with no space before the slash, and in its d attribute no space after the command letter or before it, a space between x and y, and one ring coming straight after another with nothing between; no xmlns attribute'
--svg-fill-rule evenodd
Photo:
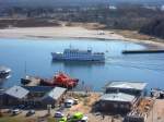
<svg viewBox="0 0 164 122"><path fill-rule="evenodd" d="M0 78L10 77L11 69L5 66L0 66Z"/></svg>

